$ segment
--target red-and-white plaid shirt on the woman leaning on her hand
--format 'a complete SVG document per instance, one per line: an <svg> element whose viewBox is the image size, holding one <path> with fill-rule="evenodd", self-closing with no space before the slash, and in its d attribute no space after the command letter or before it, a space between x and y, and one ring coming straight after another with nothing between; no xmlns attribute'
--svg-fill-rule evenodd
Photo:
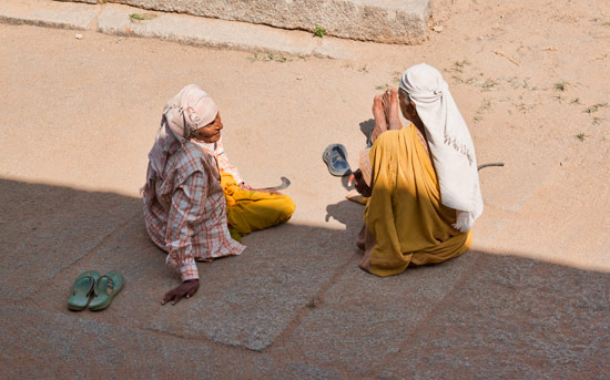
<svg viewBox="0 0 610 380"><path fill-rule="evenodd" d="M218 165L200 145L184 143L167 158L163 179L154 186L155 198L144 196L146 229L169 253L166 263L180 267L183 281L199 278L195 260L211 261L245 249L228 233Z"/></svg>

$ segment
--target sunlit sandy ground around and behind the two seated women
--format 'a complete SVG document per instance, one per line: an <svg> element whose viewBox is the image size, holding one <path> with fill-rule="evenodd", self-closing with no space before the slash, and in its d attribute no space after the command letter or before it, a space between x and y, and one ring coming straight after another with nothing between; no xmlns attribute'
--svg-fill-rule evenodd
<svg viewBox="0 0 610 380"><path fill-rule="evenodd" d="M428 43L362 43L354 61L253 62L244 52L2 27L0 175L138 196L160 110L184 84L197 83L220 104L227 151L245 178L258 186L288 176L299 205L294 222L327 225L324 206L342 199L344 188L327 175L321 152L343 143L356 166L373 95L427 62L450 84L479 163L506 163L481 172L488 210L518 212L557 177L567 198L545 199L558 206L549 217L566 218L562 210L578 198L578 215L602 225L603 207L590 194L608 174L604 11L603 1L437 1L431 24L441 31ZM565 234L542 235L552 236L548 244ZM531 249L531 242L514 244L502 248Z"/></svg>

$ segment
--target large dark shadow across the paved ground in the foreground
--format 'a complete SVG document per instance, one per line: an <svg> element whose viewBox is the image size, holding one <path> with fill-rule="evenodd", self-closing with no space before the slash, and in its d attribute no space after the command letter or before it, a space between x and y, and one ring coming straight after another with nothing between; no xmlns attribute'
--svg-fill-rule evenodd
<svg viewBox="0 0 610 380"><path fill-rule="evenodd" d="M378 278L357 267L363 207L342 201L326 212L345 229L287 223L253 233L242 256L197 265L193 299L162 307L176 279L146 236L141 199L9 179L0 194L0 361L9 378L298 378L302 362L326 378L337 378L333 369L390 379L610 370L608 273L471 250ZM71 283L87 269L125 276L109 310L67 310ZM234 359L237 369L226 366Z"/></svg>

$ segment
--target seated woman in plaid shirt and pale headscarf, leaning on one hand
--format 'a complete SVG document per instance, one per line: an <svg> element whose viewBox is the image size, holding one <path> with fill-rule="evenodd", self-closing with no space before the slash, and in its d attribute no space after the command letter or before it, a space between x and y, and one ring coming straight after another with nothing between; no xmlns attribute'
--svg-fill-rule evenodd
<svg viewBox="0 0 610 380"><path fill-rule="evenodd" d="M195 260L236 256L245 249L231 236L227 207L231 227L242 235L284 223L294 213L288 196L245 185L228 163L222 129L216 104L194 84L163 110L142 188L149 235L167 251L165 263L182 277L163 305L190 298L199 289Z"/></svg>

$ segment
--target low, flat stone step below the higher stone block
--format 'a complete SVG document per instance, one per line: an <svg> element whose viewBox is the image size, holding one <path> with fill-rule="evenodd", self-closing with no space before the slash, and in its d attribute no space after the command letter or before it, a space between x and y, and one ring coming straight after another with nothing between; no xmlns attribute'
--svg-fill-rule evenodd
<svg viewBox="0 0 610 380"><path fill-rule="evenodd" d="M254 59L261 60L282 60L286 55L349 60L364 43L339 38L315 38L305 31L170 12L154 12L153 19L134 20L130 14L152 12L123 4L87 3L93 1L0 1L0 23L154 38L183 44L248 51L258 53Z"/></svg>

